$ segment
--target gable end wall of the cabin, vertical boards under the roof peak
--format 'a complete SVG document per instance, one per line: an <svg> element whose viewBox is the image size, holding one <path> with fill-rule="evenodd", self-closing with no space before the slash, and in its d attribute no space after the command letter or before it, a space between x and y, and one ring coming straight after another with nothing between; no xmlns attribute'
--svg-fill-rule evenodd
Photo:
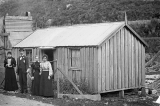
<svg viewBox="0 0 160 106"><path fill-rule="evenodd" d="M98 48L98 92L144 86L144 45L126 28Z"/></svg>

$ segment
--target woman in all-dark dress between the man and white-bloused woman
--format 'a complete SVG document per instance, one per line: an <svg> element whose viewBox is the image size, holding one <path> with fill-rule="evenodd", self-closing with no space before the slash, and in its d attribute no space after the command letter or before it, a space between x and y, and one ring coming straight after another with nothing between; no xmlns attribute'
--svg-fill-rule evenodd
<svg viewBox="0 0 160 106"><path fill-rule="evenodd" d="M39 96L39 88L40 88L40 62L38 61L38 56L35 57L35 62L31 64L31 79L32 79L32 87L31 92L32 95Z"/></svg>

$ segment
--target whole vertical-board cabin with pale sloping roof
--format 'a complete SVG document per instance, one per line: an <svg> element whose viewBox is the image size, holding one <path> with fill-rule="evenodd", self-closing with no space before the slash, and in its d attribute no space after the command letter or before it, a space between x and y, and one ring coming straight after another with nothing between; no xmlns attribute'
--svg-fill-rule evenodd
<svg viewBox="0 0 160 106"><path fill-rule="evenodd" d="M125 22L111 22L39 29L14 52L17 57L23 47L32 61L47 54L69 78L85 81L93 93L105 93L144 87L145 46Z"/></svg>

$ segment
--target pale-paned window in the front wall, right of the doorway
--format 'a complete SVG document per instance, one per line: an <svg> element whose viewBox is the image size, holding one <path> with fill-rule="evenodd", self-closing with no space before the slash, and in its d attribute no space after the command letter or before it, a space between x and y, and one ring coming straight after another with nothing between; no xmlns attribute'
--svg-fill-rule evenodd
<svg viewBox="0 0 160 106"><path fill-rule="evenodd" d="M71 68L80 68L80 49L70 49Z"/></svg>

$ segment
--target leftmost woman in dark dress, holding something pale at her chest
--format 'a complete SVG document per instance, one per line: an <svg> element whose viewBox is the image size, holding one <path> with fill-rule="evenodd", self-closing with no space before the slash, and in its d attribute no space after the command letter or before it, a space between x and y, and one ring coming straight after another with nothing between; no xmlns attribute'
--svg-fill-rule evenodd
<svg viewBox="0 0 160 106"><path fill-rule="evenodd" d="M14 67L16 67L16 60L12 57L12 53L7 53L7 58L4 60L5 67L5 85L4 90L16 91L18 90L16 75Z"/></svg>

